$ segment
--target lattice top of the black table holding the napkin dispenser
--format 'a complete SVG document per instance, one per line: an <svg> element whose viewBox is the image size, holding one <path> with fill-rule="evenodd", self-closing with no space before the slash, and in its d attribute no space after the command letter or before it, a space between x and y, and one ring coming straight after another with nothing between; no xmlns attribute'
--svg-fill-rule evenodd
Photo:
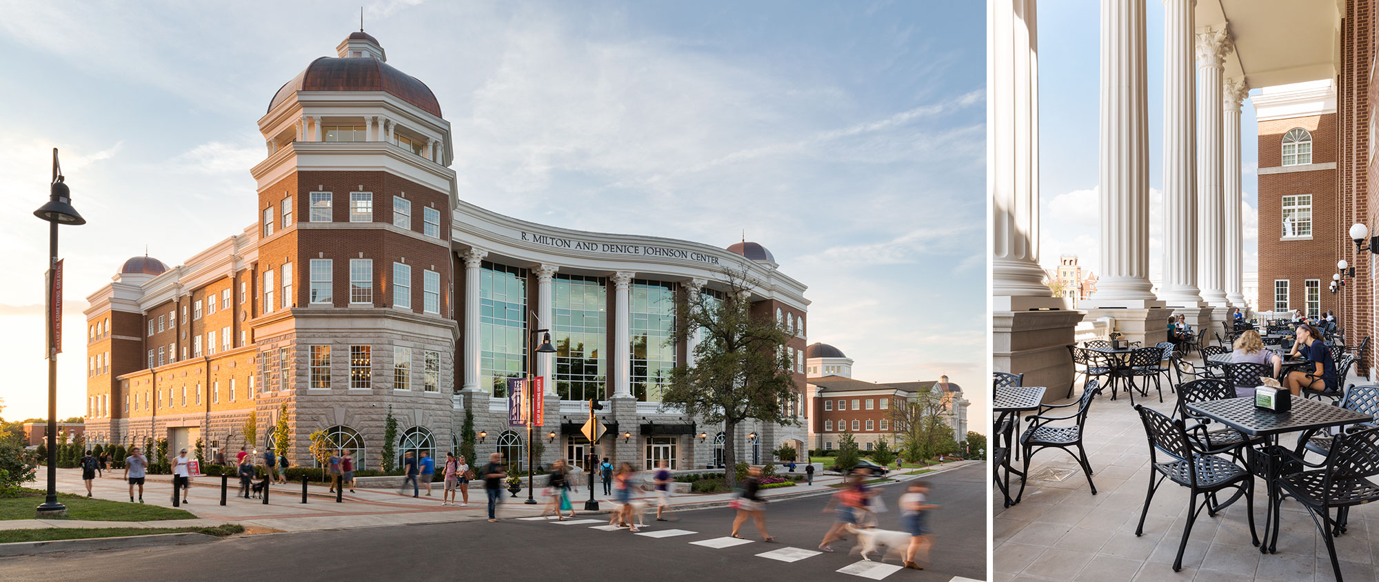
<svg viewBox="0 0 1379 582"><path fill-rule="evenodd" d="M1255 399L1249 397L1191 403L1187 404L1187 408L1249 436L1270 436L1373 421L1373 417L1368 414L1300 397L1292 399L1292 410L1288 412L1256 408Z"/></svg>

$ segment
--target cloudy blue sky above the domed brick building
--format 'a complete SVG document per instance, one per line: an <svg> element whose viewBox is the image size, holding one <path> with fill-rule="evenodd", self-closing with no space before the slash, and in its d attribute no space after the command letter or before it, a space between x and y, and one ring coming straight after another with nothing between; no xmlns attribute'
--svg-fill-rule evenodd
<svg viewBox="0 0 1379 582"><path fill-rule="evenodd" d="M254 222L255 121L359 28L328 3L3 1L6 418L44 414L51 148L88 223L62 230L59 417L85 396L84 298ZM867 381L968 389L985 423L980 3L371 1L389 63L452 124L461 197L549 225L728 245L809 285L809 339ZM57 32L57 33L55 33ZM18 113L18 112L22 112ZM25 276L23 273L29 273Z"/></svg>

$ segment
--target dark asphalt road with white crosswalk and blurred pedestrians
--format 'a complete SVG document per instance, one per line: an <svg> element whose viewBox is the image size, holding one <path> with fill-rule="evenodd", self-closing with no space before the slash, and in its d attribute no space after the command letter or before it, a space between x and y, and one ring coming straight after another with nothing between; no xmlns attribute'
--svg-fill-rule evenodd
<svg viewBox="0 0 1379 582"><path fill-rule="evenodd" d="M928 516L928 524L935 531L932 564L924 571L899 570L884 579L986 579L989 503L985 476L982 465L972 465L928 479L931 502L943 503L942 509ZM903 492L902 485L883 487L885 503L891 508L881 514L883 528L899 530L895 508ZM866 579L837 572L860 561L848 552L852 536L836 542L834 553L798 561L757 556L783 548L814 550L833 521L832 514L822 513L826 499L821 495L772 502L767 508L767 525L778 543L761 542L749 521L742 534L752 542L723 549L691 542L727 536L734 514L727 508L685 510L674 516L676 521L654 521L654 516L648 514L645 532L672 528L691 532L666 538L634 535L626 530L593 530L593 525L607 524L605 514L590 516L600 521L587 524L503 520L265 534L188 546L3 559L0 579ZM895 564L894 560L891 563Z"/></svg>

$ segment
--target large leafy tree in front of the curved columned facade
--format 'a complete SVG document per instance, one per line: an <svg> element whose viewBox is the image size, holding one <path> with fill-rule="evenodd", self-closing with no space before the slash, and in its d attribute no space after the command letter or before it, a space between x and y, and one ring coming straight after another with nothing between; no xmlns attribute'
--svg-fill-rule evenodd
<svg viewBox="0 0 1379 582"><path fill-rule="evenodd" d="M724 465L736 466L736 426L745 421L792 423L785 404L798 388L790 375L792 359L783 349L790 334L765 312L752 312L758 288L746 269L723 272L723 298L688 294L677 303L672 341L699 335L692 365L672 370L661 396L663 405L684 410L706 422L723 422ZM727 472L727 485L736 476Z"/></svg>

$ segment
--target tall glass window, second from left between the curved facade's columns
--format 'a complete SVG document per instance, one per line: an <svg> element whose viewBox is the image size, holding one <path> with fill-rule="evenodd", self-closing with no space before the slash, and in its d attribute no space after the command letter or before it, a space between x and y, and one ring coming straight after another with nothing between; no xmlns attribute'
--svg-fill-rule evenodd
<svg viewBox="0 0 1379 582"><path fill-rule="evenodd" d="M605 397L603 356L608 334L608 290L603 277L556 274L552 305L556 374L560 400Z"/></svg>

